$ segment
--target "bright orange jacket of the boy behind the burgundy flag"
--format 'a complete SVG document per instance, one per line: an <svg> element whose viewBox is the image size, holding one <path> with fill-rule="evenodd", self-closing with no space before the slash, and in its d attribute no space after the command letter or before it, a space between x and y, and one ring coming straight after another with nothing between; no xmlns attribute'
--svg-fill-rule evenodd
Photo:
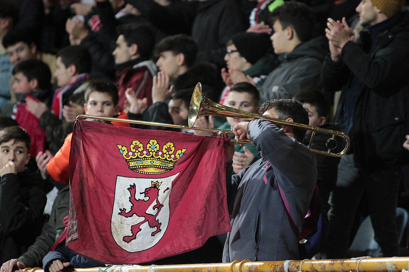
<svg viewBox="0 0 409 272"><path fill-rule="evenodd" d="M118 118L121 119L128 119L128 115L126 113L120 113ZM129 123L124 122L112 122L115 126L126 126L130 127ZM69 173L68 173L68 165L70 161L70 150L71 150L71 137L72 133L68 134L64 140L63 146L61 146L60 150L55 154L52 159L47 164L47 171L50 176L60 183L68 183Z"/></svg>

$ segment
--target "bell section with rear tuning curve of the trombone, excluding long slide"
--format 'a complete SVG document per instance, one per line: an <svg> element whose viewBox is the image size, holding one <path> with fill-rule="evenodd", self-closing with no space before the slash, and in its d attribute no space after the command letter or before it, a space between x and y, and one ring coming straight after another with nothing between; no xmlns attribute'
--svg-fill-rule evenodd
<svg viewBox="0 0 409 272"><path fill-rule="evenodd" d="M343 132L336 131L336 130L329 130L325 128L319 128L316 126L308 126L304 124L298 124L294 122L289 122L281 119L276 119L272 117L267 117L264 115L258 115L255 113L249 113L247 111L240 111L236 108L231 108L229 106L224 106L209 100L202 94L202 86L200 82L196 85L195 89L193 90L192 99L190 101L189 107L189 117L188 117L188 124L189 127L192 127L195 123L196 119L201 116L205 115L217 115L217 116L225 116L225 117L235 117L240 119L246 120L255 120L255 119L267 119L272 121L273 124L279 124L284 126L292 126L294 128L302 128L306 130L311 130L312 135L310 139L310 143L308 144L308 148L310 148L312 144L312 139L314 139L315 133L326 133L332 135L326 142L326 147L328 148L327 151L316 150L310 148L310 150L314 153L327 155L332 157L341 157L344 155L349 149L349 137ZM232 131L227 131L228 133L232 133ZM337 147L337 141L334 139L335 136L340 136L345 139L346 145L344 150L339 153L332 153L331 150ZM251 144L250 141L247 141L246 144Z"/></svg>

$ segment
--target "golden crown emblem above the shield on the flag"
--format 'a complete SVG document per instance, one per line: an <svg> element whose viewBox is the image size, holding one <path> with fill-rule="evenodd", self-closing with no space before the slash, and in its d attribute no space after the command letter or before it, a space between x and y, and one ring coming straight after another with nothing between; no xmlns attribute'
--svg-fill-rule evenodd
<svg viewBox="0 0 409 272"><path fill-rule="evenodd" d="M126 146L117 144L119 152L124 156L130 170L141 174L162 174L175 167L175 162L183 156L186 148L176 151L175 145L167 142L162 149L157 140L151 139L144 145L138 140L133 140L130 145L130 151Z"/></svg>

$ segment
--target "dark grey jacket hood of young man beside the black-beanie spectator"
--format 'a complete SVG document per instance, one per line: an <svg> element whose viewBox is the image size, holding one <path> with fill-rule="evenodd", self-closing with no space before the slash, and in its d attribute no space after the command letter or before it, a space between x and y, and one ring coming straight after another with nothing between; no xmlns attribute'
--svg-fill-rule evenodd
<svg viewBox="0 0 409 272"><path fill-rule="evenodd" d="M279 61L285 62L297 57L316 57L323 62L328 53L328 40L324 36L319 36L297 45L291 52L279 54Z"/></svg>

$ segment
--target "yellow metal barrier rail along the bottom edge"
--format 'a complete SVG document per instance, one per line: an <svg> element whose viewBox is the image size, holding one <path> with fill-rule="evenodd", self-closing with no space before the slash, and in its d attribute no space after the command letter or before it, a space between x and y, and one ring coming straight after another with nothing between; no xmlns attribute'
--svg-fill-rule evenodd
<svg viewBox="0 0 409 272"><path fill-rule="evenodd" d="M303 261L249 260L232 263L202 263L183 265L112 265L103 268L67 269L72 272L401 272L409 270L409 257L353 258ZM41 268L25 268L28 272L43 272Z"/></svg>

